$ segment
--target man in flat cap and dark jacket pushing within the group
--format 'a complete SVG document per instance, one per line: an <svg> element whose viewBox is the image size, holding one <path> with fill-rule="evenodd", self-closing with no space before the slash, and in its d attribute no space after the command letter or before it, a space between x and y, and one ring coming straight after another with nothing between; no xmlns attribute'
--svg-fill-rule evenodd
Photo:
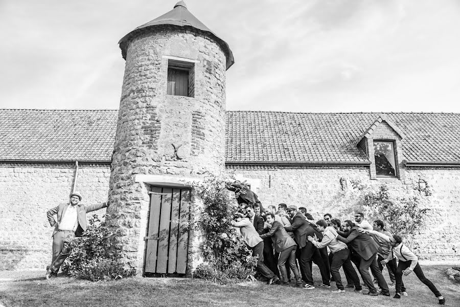
<svg viewBox="0 0 460 307"><path fill-rule="evenodd" d="M305 216L297 211L297 207L291 205L287 207L287 212L291 217L291 226L284 226L286 231L292 231L294 233L294 239L297 243L298 247L301 251L301 272L303 274L302 278L304 278L306 284L304 286L305 289L315 289L313 283L313 276L311 274L310 268L310 261L313 262L318 266L319 272L321 273L321 278L323 279L323 283L320 286L330 288L330 277L327 275L326 266L323 262L323 258L319 254L318 249L307 240L307 236L315 236L318 239L323 238L323 235L313 229L311 225L305 219Z"/></svg>

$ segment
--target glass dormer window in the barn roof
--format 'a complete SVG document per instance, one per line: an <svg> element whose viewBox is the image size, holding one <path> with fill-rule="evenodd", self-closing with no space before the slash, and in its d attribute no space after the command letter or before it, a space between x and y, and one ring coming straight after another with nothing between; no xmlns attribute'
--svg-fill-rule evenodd
<svg viewBox="0 0 460 307"><path fill-rule="evenodd" d="M377 177L396 177L396 157L393 141L374 140L375 171Z"/></svg>

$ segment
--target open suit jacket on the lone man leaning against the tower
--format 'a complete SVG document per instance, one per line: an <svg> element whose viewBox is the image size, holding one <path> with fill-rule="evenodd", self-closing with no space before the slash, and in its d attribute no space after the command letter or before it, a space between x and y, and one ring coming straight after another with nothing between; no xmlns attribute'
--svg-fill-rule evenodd
<svg viewBox="0 0 460 307"><path fill-rule="evenodd" d="M62 216L64 216L65 211L67 210L68 206L70 206L70 204L60 204L59 206L56 206L48 210L47 212L48 221L50 222L51 226L56 226L54 228L52 236L54 236L56 232L59 231L59 223L61 223ZM77 227L77 230L75 231L75 235L81 236L87 228L86 212L96 211L96 210L105 208L107 207L107 203L94 204L94 205L88 205L88 206L77 204L76 206L77 206L78 227ZM53 215L55 214L57 214L57 222L54 220Z"/></svg>

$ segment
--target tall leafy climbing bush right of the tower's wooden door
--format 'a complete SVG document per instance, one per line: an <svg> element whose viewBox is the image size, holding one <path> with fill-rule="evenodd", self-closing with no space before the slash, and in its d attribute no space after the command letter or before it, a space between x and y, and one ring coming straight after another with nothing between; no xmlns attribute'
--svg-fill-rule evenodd
<svg viewBox="0 0 460 307"><path fill-rule="evenodd" d="M252 280L257 258L251 256L231 224L235 200L229 196L225 180L209 175L194 186L204 204L199 212L204 230L204 263L194 276L221 283Z"/></svg>

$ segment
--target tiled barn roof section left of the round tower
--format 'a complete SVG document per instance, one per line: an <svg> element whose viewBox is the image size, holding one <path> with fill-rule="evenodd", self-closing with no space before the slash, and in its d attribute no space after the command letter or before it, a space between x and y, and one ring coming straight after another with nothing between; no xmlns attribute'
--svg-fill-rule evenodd
<svg viewBox="0 0 460 307"><path fill-rule="evenodd" d="M110 160L118 110L0 109L0 160Z"/></svg>

